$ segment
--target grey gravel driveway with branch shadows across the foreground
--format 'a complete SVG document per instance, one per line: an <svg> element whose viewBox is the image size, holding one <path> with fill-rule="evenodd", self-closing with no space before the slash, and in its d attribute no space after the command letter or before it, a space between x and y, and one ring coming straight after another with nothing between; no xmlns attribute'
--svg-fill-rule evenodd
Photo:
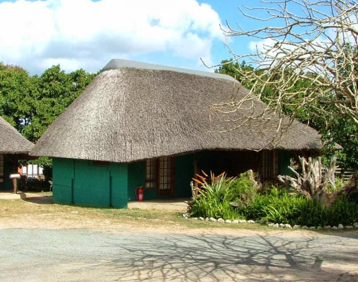
<svg viewBox="0 0 358 282"><path fill-rule="evenodd" d="M357 281L358 233L0 229L0 281Z"/></svg>

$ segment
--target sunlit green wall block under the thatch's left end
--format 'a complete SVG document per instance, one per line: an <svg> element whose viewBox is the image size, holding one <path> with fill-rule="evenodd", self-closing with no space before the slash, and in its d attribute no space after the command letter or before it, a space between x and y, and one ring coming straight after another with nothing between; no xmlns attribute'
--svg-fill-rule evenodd
<svg viewBox="0 0 358 282"><path fill-rule="evenodd" d="M52 173L55 203L127 207L127 164L54 158Z"/></svg>

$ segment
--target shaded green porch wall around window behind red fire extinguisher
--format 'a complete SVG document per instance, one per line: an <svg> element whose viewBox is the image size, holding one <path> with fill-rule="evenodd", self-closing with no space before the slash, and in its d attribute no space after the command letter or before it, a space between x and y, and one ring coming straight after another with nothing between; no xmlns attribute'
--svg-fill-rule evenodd
<svg viewBox="0 0 358 282"><path fill-rule="evenodd" d="M193 154L174 158L174 194L158 195L156 189L144 189L144 200L187 198L191 196L190 181L194 173ZM135 189L144 187L145 161L128 164L128 201L136 201Z"/></svg>

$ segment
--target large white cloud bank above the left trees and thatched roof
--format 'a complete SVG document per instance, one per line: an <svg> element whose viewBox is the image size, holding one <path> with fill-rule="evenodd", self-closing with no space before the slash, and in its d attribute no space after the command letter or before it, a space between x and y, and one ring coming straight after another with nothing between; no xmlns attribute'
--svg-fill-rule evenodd
<svg viewBox="0 0 358 282"><path fill-rule="evenodd" d="M197 0L46 0L0 4L0 61L41 71L60 63L97 71L151 52L211 63L223 40L216 11Z"/></svg>

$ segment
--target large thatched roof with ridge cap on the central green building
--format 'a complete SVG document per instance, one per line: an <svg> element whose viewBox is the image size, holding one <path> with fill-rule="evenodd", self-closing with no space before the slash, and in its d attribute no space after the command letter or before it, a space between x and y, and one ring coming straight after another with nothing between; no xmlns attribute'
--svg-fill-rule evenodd
<svg viewBox="0 0 358 282"><path fill-rule="evenodd" d="M30 154L131 162L199 150L262 149L274 130L257 132L244 125L210 132L235 126L224 121L227 115L209 120L210 104L230 101L232 93L248 92L222 74L112 60ZM260 102L257 110L263 107ZM240 110L230 118L250 113ZM320 135L295 121L276 148L319 149Z"/></svg>

